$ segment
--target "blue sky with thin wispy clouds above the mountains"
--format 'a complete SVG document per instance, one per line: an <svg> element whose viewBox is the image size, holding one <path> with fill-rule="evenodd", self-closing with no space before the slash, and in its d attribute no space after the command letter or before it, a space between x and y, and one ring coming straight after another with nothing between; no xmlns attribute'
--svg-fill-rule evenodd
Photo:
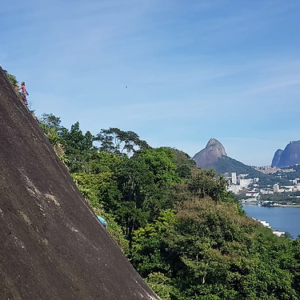
<svg viewBox="0 0 300 300"><path fill-rule="evenodd" d="M270 165L300 140L299 0L2 1L0 65L40 116Z"/></svg>

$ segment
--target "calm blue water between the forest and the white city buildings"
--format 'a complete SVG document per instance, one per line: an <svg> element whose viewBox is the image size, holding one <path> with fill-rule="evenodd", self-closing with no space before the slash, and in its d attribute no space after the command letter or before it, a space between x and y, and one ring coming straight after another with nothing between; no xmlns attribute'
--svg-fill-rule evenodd
<svg viewBox="0 0 300 300"><path fill-rule="evenodd" d="M243 205L249 217L266 221L273 229L289 232L294 239L300 234L300 208Z"/></svg>

